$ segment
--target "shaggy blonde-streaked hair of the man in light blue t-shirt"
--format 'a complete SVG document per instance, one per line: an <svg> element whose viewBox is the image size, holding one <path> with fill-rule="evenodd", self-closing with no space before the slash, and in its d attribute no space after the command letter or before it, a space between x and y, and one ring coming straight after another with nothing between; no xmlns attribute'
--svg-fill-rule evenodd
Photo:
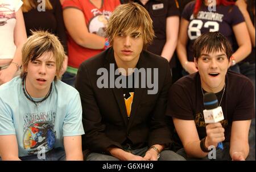
<svg viewBox="0 0 256 172"><path fill-rule="evenodd" d="M36 60L45 52L51 52L56 59L56 76L54 81L61 78L60 70L63 67L65 52L59 39L47 31L32 31L22 48L22 72L20 77L26 78L28 62Z"/></svg>

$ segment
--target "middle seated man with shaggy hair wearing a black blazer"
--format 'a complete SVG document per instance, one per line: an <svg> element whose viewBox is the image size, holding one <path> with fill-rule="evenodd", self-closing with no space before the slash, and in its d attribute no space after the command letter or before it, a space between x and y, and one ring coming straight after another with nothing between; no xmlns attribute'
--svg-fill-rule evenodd
<svg viewBox="0 0 256 172"><path fill-rule="evenodd" d="M120 5L106 35L112 46L80 65L75 84L86 160L184 160L167 150L171 73L166 59L144 50L154 38L150 15L138 3Z"/></svg>

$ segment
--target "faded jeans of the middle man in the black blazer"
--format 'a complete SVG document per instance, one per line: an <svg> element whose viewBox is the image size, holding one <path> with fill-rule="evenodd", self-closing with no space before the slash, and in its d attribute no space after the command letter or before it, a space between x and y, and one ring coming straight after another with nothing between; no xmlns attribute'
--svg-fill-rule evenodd
<svg viewBox="0 0 256 172"><path fill-rule="evenodd" d="M144 147L140 149L129 150L128 152L137 156L144 157L147 150L148 147ZM90 153L86 157L86 161L119 161L119 159L107 154ZM185 159L171 150L163 150L160 152L160 158L158 161L185 161Z"/></svg>

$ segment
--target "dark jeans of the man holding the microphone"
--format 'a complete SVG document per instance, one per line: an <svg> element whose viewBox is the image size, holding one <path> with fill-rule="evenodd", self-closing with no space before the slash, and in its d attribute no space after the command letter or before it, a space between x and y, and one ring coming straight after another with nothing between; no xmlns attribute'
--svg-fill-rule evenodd
<svg viewBox="0 0 256 172"><path fill-rule="evenodd" d="M177 150L177 154L179 154L180 156L183 156L186 160L189 161L225 161L225 160L232 160L230 155L229 155L229 142L224 142L223 143L223 150L221 149L216 149L216 159L212 159L210 160L208 158L208 156L204 157L204 158L189 158L187 156L187 154L185 153L184 148L181 148L179 150ZM254 152L255 153L255 152ZM255 157L253 157L253 152L249 152L249 155L246 158L246 161L255 161Z"/></svg>

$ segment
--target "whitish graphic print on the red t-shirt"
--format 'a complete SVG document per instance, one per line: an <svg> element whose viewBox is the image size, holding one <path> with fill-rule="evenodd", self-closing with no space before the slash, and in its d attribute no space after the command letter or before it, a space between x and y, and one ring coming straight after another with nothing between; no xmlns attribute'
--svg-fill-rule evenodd
<svg viewBox="0 0 256 172"><path fill-rule="evenodd" d="M108 20L112 12L105 10L101 12L98 9L93 9L91 12L93 13L94 17L89 21L89 32L94 33L98 36L105 37L106 24L108 23Z"/></svg>

